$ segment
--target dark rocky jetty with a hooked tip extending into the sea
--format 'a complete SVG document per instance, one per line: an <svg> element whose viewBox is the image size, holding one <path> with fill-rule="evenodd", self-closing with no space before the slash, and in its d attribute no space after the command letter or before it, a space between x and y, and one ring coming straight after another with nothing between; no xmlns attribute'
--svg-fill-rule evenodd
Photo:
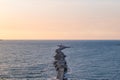
<svg viewBox="0 0 120 80"><path fill-rule="evenodd" d="M54 67L57 71L57 79L58 80L68 80L65 74L68 71L67 62L65 60L66 55L62 52L63 49L70 48L64 45L58 45L58 49L56 49L56 55L54 56Z"/></svg>

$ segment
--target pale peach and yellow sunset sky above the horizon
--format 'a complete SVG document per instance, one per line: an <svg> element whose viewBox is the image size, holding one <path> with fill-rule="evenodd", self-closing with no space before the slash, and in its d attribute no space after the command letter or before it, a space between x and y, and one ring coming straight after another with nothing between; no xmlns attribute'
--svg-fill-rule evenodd
<svg viewBox="0 0 120 80"><path fill-rule="evenodd" d="M0 39L120 40L120 0L0 0Z"/></svg>

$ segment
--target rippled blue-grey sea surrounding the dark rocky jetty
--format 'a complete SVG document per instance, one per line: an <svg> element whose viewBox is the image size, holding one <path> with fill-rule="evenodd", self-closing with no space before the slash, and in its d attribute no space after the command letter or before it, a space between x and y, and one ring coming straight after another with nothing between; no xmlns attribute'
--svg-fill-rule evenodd
<svg viewBox="0 0 120 80"><path fill-rule="evenodd" d="M120 80L120 40L0 41L0 80L50 80L58 44L69 67L68 80Z"/></svg>

